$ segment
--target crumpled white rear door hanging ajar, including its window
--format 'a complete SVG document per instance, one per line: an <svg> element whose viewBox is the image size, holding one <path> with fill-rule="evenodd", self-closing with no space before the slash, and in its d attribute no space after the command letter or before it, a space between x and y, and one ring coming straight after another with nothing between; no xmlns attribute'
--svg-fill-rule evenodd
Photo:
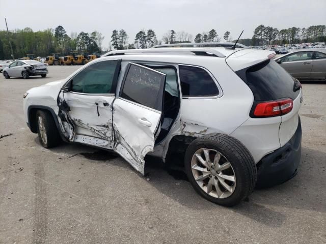
<svg viewBox="0 0 326 244"><path fill-rule="evenodd" d="M166 75L129 63L113 103L115 151L144 174L144 157L159 131Z"/></svg>

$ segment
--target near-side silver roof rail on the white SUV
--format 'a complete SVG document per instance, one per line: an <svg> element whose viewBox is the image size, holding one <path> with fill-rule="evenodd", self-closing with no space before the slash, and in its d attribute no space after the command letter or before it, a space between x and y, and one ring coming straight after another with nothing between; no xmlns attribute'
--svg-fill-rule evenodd
<svg viewBox="0 0 326 244"><path fill-rule="evenodd" d="M192 54L201 56L215 56L215 57L226 57L223 53L218 50L211 48L147 48L147 49L127 49L127 50L116 50L105 53L102 57L113 56L113 55L124 55L124 54Z"/></svg>

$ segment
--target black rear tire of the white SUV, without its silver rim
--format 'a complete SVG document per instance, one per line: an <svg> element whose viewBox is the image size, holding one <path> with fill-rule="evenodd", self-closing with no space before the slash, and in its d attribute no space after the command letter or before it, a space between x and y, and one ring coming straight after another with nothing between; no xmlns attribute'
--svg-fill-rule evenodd
<svg viewBox="0 0 326 244"><path fill-rule="evenodd" d="M210 196L197 184L191 162L193 155L200 148L219 151L230 162L236 178L236 186L229 197ZM186 149L184 166L188 179L196 192L205 199L223 206L234 206L247 198L254 190L257 181L256 164L248 149L237 139L224 134L213 133L195 139Z"/></svg>

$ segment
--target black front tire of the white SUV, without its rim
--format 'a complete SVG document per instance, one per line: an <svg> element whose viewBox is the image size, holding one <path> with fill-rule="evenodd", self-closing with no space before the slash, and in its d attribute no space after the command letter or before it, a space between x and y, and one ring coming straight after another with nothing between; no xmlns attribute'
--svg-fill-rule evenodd
<svg viewBox="0 0 326 244"><path fill-rule="evenodd" d="M39 116L42 118L44 130L40 127ZM37 132L39 135L40 143L45 148L55 147L60 144L61 138L55 120L50 112L46 110L38 110L36 112ZM46 135L46 140L42 139L42 131Z"/></svg>

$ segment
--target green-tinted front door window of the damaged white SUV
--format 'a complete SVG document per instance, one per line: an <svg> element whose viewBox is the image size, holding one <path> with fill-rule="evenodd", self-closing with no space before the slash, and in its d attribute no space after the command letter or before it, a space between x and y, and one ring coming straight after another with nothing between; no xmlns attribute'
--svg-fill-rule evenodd
<svg viewBox="0 0 326 244"><path fill-rule="evenodd" d="M87 94L115 93L114 80L117 79L120 60L97 62L80 71L72 78L71 91Z"/></svg>

